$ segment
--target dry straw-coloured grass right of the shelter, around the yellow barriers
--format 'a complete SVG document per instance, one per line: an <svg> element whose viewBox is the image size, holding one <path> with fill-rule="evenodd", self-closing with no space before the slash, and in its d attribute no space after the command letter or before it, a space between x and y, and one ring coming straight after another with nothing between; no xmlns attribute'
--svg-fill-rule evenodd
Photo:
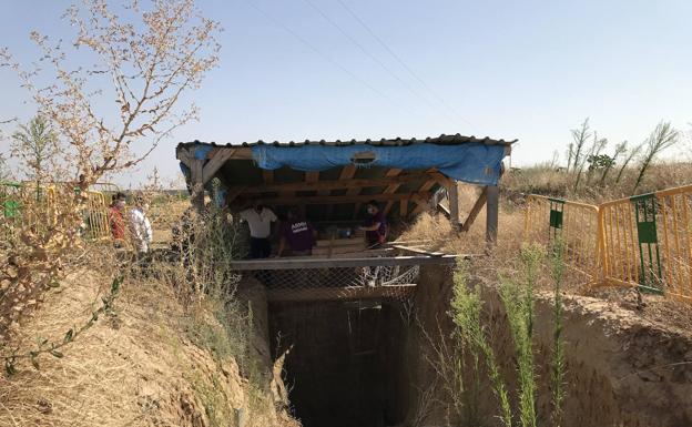
<svg viewBox="0 0 692 427"><path fill-rule="evenodd" d="M655 165L644 181L644 190L661 190L670 186L690 184L690 165ZM523 240L523 199L513 197L518 193L540 193L545 195L560 195L569 193L567 190L568 176L561 172L546 169L529 169L512 172L502 182L503 194L501 196L498 244L490 255L477 257L472 263L472 273L477 278L489 285L498 282L498 275L511 276L519 271L518 254ZM630 171L628 180L632 181L633 172ZM628 181L629 182L629 181ZM609 187L606 195L582 193L580 200L596 203L607 197L620 197L627 192L618 187ZM461 217L472 206L476 194L472 187L461 186L459 197L459 211ZM457 254L484 254L485 251L485 209L478 215L468 233L455 233L449 221L441 214L428 212L420 215L399 237L400 241L420 242L424 247L445 251ZM573 268L568 268L564 275L562 289L572 295L596 296L604 299L613 307L629 309L644 323L657 324L664 327L673 327L679 332L692 329L692 309L689 304L665 298L664 296L643 294L640 295L633 288L594 288L589 289L584 285L588 278ZM546 268L539 277L538 289L549 291L552 288L551 279ZM640 303L641 301L641 303Z"/></svg>

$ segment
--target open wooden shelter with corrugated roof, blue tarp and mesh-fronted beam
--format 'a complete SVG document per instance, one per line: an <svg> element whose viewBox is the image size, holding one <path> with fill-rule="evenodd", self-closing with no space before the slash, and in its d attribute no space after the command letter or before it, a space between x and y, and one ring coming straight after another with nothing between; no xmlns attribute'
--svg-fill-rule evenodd
<svg viewBox="0 0 692 427"><path fill-rule="evenodd" d="M314 301L335 295L363 298L409 292L415 286L418 266L450 264L454 256L391 246L357 251L353 238L339 238L338 227L358 224L370 200L380 204L390 224L396 224L430 207L441 206L439 202L447 197L448 207L444 211L459 231L467 231L482 206L487 205L486 237L492 243L497 240L498 183L503 169L502 160L509 155L515 142L460 134L423 140L257 141L238 144L193 141L180 143L176 157L186 176L192 202L200 209L203 209L204 191L212 190L214 183L217 202L226 204L231 211L261 201L265 206L272 206L281 217L289 206L299 206L313 223L318 224L318 230L337 231L336 236L326 233L319 237L313 252L315 256L311 258L235 262L240 271L266 273L263 277L269 291L273 281L275 284L276 281L283 283L274 286L274 293L269 292L271 299L272 295L279 301ZM459 215L457 182L482 187L465 218ZM386 270L386 274L376 273L373 277L373 268L380 267ZM324 277L317 279L323 283L304 286L301 292L286 285L297 277L297 271L306 268L340 272L338 277L332 274L326 286L334 287L337 283L338 289L325 293L324 282L327 278ZM364 274L354 276L354 268L363 268ZM294 272L295 277L291 274L286 276L288 272ZM384 292L381 286L365 286L364 291L363 285L372 284L373 278L391 287ZM320 288L322 292L317 294L313 288Z"/></svg>

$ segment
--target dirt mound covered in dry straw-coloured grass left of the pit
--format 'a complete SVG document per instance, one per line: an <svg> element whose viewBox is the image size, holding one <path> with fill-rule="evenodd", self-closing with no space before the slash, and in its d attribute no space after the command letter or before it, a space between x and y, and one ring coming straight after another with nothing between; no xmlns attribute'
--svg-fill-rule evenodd
<svg viewBox="0 0 692 427"><path fill-rule="evenodd" d="M61 339L89 319L108 284L93 272L71 275L16 331L14 346ZM194 321L171 289L126 282L115 307L64 357L42 356L40 370L22 364L0 379L0 426L295 425L275 410L273 367L253 384L232 357L193 344Z"/></svg>

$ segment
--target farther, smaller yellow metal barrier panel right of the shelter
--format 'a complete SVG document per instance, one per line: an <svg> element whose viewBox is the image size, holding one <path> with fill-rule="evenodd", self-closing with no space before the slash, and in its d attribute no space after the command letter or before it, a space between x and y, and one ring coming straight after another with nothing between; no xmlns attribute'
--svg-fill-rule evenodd
<svg viewBox="0 0 692 427"><path fill-rule="evenodd" d="M599 210L597 206L560 199L529 195L525 217L525 241L564 244L566 264L596 283L600 277Z"/></svg>

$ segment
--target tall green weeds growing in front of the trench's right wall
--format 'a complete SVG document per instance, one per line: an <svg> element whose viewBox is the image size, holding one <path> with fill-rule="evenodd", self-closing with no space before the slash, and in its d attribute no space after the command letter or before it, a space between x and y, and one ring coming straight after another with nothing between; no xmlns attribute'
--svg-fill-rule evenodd
<svg viewBox="0 0 692 427"><path fill-rule="evenodd" d="M551 420L560 426L562 405L566 398L564 373L566 354L562 337L562 299L561 284L564 273L563 245L556 242L550 247L550 255L538 244L525 245L519 254L520 274L500 275L498 294L507 316L507 327L516 355L516 405L510 397L509 384L513 384L500 369L493 334L490 333L488 316L480 284L469 283L468 265L462 264L455 272L454 296L450 316L455 325L452 339L458 346L457 359L439 358L438 365L460 364L458 369L437 368L438 376L455 396L456 415L460 425L480 425L478 392L481 374L486 373L490 387L497 398L498 417L506 427L518 421L522 427L542 425L539 418L537 401L539 398L538 366L535 348L535 294L538 287L541 268L548 261L553 282L553 325L552 325L552 360L550 363L550 400L552 405ZM438 346L446 348L446 345ZM440 373L459 373L457 375L439 375ZM465 374L466 373L466 374ZM470 384L465 379L470 376ZM472 421L471 421L472 420ZM471 424L469 424L471 423Z"/></svg>

